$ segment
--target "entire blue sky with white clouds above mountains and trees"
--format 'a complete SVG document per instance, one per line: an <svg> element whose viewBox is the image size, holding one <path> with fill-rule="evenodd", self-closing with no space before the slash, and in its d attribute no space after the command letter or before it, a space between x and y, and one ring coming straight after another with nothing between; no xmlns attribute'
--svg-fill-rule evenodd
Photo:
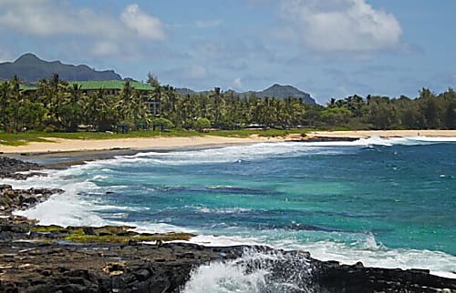
<svg viewBox="0 0 456 293"><path fill-rule="evenodd" d="M0 62L207 90L296 86L326 104L456 85L453 0L0 0Z"/></svg>

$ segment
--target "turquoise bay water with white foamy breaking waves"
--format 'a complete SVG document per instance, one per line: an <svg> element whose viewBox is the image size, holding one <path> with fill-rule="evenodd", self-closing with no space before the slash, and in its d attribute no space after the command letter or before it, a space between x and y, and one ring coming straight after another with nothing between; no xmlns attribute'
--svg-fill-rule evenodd
<svg viewBox="0 0 456 293"><path fill-rule="evenodd" d="M456 137L264 143L145 152L0 183L65 189L18 212L42 224L187 231L203 245L265 244L456 278L455 157ZM185 290L261 292L264 274L212 264Z"/></svg>

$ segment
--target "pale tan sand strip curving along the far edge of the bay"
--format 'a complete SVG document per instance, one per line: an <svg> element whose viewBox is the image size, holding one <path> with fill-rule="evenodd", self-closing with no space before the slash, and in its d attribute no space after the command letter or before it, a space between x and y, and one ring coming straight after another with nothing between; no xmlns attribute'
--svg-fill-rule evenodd
<svg viewBox="0 0 456 293"><path fill-rule="evenodd" d="M176 136L150 138L112 138L112 139L65 139L47 137L48 142L30 142L25 146L0 145L0 155L7 157L104 157L136 154L140 151L171 151L181 149L200 149L207 147L229 147L288 141L316 142L328 140L356 140L368 137L456 137L456 130L351 130L351 131L314 131L301 136ZM98 154L90 156L90 154ZM110 157L112 157L110 156Z"/></svg>

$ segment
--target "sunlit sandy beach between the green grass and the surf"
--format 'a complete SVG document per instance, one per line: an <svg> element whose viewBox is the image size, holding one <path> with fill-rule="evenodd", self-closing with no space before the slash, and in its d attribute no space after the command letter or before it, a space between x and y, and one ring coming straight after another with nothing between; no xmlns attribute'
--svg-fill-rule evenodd
<svg viewBox="0 0 456 293"><path fill-rule="evenodd" d="M455 136L456 130L360 130L360 131L316 131L307 134L305 140L318 137L363 138L369 136L406 137L406 136ZM180 147L216 147L226 145L248 145L261 142L279 142L301 140L300 134L285 137L224 137L224 136L188 136L188 137L150 137L150 138L114 138L114 139L46 139L51 142L31 142L26 146L11 147L0 145L0 153L57 153L78 151L100 151L119 149L175 149Z"/></svg>

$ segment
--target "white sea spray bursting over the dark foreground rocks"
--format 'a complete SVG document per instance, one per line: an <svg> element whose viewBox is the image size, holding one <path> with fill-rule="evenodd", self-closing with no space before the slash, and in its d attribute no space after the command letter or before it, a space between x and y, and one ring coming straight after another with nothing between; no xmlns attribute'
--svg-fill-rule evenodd
<svg viewBox="0 0 456 293"><path fill-rule="evenodd" d="M183 292L313 292L311 273L305 252L246 248L241 258L194 269Z"/></svg>

